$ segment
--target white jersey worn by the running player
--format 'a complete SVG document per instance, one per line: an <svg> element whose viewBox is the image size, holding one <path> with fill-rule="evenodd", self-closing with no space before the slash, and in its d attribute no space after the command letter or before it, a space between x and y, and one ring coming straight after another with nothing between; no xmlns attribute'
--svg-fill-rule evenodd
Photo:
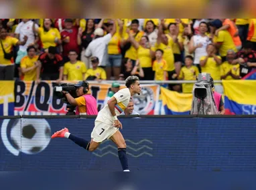
<svg viewBox="0 0 256 190"><path fill-rule="evenodd" d="M121 89L117 93L113 95L115 99L117 99L117 104L115 105L115 114L121 115L121 113L125 110L129 101L131 99L131 93L128 88ZM109 105L105 105L101 111L99 111L97 118L95 121L101 121L103 123L113 124L114 119L113 115L109 110Z"/></svg>

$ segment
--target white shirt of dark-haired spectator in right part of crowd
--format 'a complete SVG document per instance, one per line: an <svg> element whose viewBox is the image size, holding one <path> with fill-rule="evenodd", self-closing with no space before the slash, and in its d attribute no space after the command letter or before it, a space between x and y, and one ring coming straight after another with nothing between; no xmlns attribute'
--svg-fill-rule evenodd
<svg viewBox="0 0 256 190"><path fill-rule="evenodd" d="M194 35L193 39L194 46L202 43L202 47L198 47L194 51L194 64L199 64L200 58L207 55L206 47L211 41L208 36L202 37L201 35Z"/></svg>

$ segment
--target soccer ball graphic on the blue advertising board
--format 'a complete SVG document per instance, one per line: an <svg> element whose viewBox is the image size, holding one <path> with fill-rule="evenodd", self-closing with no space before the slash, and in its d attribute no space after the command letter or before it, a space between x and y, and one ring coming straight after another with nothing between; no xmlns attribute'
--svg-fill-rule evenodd
<svg viewBox="0 0 256 190"><path fill-rule="evenodd" d="M34 155L46 149L51 139L51 128L46 119L5 119L1 139L6 149L15 156Z"/></svg>

